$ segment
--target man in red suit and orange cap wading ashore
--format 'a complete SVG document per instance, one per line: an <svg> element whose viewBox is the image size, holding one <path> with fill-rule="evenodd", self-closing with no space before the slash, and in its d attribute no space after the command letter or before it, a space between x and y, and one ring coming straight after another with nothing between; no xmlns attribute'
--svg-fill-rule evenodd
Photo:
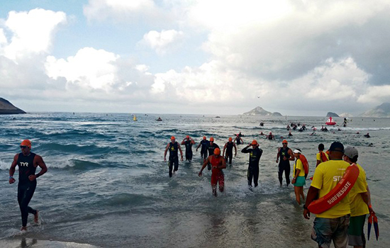
<svg viewBox="0 0 390 248"><path fill-rule="evenodd" d="M207 157L198 176L202 176L202 171L208 164L211 164L211 188L213 189L213 196L217 196L217 183L221 192L223 192L225 186L225 176L223 175L222 169L226 168L226 161L221 156L221 150L218 147L213 150L213 155Z"/></svg>

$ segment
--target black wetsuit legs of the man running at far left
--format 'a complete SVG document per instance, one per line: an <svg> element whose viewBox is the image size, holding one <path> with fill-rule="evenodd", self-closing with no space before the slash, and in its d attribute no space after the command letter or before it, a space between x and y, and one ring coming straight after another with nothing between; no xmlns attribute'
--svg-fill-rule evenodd
<svg viewBox="0 0 390 248"><path fill-rule="evenodd" d="M26 227L27 225L28 213L32 213L33 215L37 214L37 210L34 210L28 206L31 198L33 198L36 186L37 181L28 181L24 184L18 185L18 203L19 208L21 208L23 227Z"/></svg>

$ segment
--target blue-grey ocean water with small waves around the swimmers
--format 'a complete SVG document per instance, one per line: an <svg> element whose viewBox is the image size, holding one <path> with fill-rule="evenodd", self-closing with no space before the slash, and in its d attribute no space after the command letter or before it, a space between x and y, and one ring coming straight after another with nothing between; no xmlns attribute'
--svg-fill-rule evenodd
<svg viewBox="0 0 390 248"><path fill-rule="evenodd" d="M320 129L328 118L160 115L157 122L159 115L136 115L136 122L130 113L0 115L0 247L317 247L310 237L314 216L304 219L294 187L279 187L277 179L277 148L291 122L308 127L286 139L308 159L309 175L319 143L328 148L340 141L359 150L381 231L377 241L372 229L367 247L390 246L390 118L355 117L346 128L311 135L311 127ZM275 140L260 135L270 131ZM224 169L225 192L213 197L210 171L198 176L195 148L204 135L223 147L238 132L245 145L256 139L263 150L259 186L248 189L248 154L238 145L233 164ZM178 142L190 135L196 145L193 161L179 162L169 178L163 155L172 135ZM48 166L30 202L40 210L40 225L30 215L27 232L19 230L17 181L8 182L24 139ZM305 194L309 186L307 180Z"/></svg>

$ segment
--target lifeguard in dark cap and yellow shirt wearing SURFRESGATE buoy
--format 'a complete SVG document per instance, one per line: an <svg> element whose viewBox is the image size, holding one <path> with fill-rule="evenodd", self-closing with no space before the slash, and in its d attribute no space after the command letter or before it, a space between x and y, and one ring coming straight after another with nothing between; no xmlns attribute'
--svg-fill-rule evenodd
<svg viewBox="0 0 390 248"><path fill-rule="evenodd" d="M306 196L306 204L303 205L303 217L306 219L310 218L307 206L332 191L342 179L347 167L350 166L349 163L342 160L344 154L342 143L333 142L329 151L330 160L318 164L316 171L314 171L313 181ZM350 198L347 194L338 204L316 215L311 239L318 243L318 247L328 248L333 241L335 247L346 248L350 213Z"/></svg>

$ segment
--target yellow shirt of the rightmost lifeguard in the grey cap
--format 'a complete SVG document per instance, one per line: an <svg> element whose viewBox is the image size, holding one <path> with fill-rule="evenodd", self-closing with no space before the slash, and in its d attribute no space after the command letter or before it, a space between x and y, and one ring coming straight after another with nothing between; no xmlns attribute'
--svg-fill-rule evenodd
<svg viewBox="0 0 390 248"><path fill-rule="evenodd" d="M360 195L360 193L367 192L366 171L359 164L356 165L359 167L359 176L349 193L351 216L367 215L369 213L368 206Z"/></svg>

